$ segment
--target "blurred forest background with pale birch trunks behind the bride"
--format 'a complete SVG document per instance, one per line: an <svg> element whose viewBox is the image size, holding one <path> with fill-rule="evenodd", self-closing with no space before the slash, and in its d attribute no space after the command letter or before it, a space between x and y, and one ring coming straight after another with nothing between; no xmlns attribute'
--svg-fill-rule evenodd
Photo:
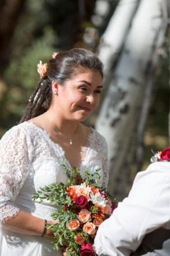
<svg viewBox="0 0 170 256"><path fill-rule="evenodd" d="M17 125L53 52L84 47L104 63L100 106L85 125L108 143L118 200L169 145L169 0L0 0L0 138Z"/></svg>

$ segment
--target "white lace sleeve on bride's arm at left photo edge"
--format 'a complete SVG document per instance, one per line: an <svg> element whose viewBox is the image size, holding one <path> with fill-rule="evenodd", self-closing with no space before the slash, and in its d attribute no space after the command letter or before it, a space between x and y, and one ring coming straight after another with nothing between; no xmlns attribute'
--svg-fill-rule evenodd
<svg viewBox="0 0 170 256"><path fill-rule="evenodd" d="M10 129L0 141L0 226L5 218L14 217L19 209L13 201L28 175L31 139L20 127Z"/></svg>

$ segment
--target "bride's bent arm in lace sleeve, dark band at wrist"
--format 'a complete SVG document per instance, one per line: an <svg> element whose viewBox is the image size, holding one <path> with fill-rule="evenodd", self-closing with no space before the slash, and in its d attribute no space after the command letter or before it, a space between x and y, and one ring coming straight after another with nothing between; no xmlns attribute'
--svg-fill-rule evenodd
<svg viewBox="0 0 170 256"><path fill-rule="evenodd" d="M0 226L23 234L42 236L45 220L27 214L13 205L31 169L32 141L21 127L10 129L0 141ZM54 224L56 221L48 221ZM44 236L53 238L45 229Z"/></svg>

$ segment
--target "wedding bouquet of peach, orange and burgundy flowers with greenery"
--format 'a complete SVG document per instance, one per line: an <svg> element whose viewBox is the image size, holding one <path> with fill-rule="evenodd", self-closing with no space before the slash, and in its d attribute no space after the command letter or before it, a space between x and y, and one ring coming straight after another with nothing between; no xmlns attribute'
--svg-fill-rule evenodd
<svg viewBox="0 0 170 256"><path fill-rule="evenodd" d="M64 256L95 256L93 241L97 229L117 208L117 201L111 200L111 195L102 187L97 187L100 169L93 169L92 173L84 170L83 178L78 168L70 170L64 163L61 165L66 169L68 186L53 183L40 187L33 198L39 198L39 202L50 200L60 206L52 215L59 223L47 225L56 237L54 250L65 245Z"/></svg>

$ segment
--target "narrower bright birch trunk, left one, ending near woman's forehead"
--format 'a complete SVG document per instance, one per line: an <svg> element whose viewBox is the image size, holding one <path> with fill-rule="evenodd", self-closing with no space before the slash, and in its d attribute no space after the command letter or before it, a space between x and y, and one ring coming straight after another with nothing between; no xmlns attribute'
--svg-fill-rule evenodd
<svg viewBox="0 0 170 256"><path fill-rule="evenodd" d="M140 0L121 0L118 2L114 15L102 35L98 56L104 64L104 74L106 76L108 76L110 70L113 70L113 63L117 61L121 52L139 3Z"/></svg>

